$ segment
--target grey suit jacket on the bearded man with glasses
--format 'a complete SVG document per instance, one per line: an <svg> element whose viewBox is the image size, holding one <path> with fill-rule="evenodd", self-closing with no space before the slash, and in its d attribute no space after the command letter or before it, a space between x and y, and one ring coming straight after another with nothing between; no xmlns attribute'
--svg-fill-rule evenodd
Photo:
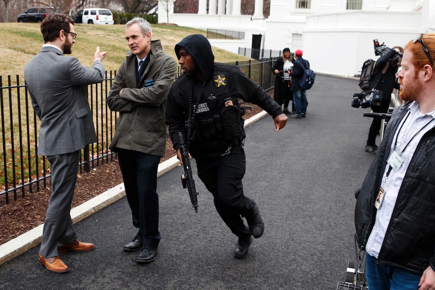
<svg viewBox="0 0 435 290"><path fill-rule="evenodd" d="M86 68L50 46L43 46L26 65L24 79L41 120L38 155L71 153L97 141L86 85L103 77L100 61Z"/></svg>

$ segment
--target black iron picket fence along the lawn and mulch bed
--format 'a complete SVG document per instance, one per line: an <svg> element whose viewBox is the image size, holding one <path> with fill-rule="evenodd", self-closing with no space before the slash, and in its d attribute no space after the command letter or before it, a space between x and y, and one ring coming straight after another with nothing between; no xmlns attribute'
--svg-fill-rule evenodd
<svg viewBox="0 0 435 290"><path fill-rule="evenodd" d="M271 72L273 62L274 59L265 59L261 62L244 61L231 64L239 66L247 77L269 91L274 85ZM177 76L180 74L179 68ZM108 109L105 100L115 76L116 71L106 72L102 83L88 86L89 104L98 141L82 150L80 172L89 171L90 168L114 158L115 153L108 149L108 145L115 133L118 113ZM37 192L45 188L50 172L46 157L36 154L39 119L33 111L24 80L18 75L15 78L8 76L5 83L6 85L0 76L0 196L5 195L6 203L9 203L10 195L16 200L18 195L24 197L27 192Z"/></svg>

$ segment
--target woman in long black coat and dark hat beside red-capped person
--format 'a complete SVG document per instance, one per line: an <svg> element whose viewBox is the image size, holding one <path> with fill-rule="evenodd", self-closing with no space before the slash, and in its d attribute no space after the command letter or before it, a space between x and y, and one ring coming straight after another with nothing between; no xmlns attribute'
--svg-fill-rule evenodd
<svg viewBox="0 0 435 290"><path fill-rule="evenodd" d="M275 74L275 89L274 100L282 105L284 103L284 112L288 112L290 100L293 101L293 92L290 90L292 77L289 76L293 68L292 55L288 47L283 49L283 56L278 59L272 71ZM295 111L294 104L292 103L292 111Z"/></svg>

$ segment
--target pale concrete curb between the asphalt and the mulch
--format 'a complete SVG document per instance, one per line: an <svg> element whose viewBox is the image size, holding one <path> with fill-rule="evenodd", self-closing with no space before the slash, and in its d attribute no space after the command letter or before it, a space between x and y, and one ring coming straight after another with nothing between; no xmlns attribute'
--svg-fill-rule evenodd
<svg viewBox="0 0 435 290"><path fill-rule="evenodd" d="M266 115L266 111L261 111L253 117L249 118L245 121L245 128L266 117ZM177 156L173 156L170 159L161 162L158 165L157 177L164 175L166 172L179 165L180 161L177 159ZM124 196L124 183L121 183L114 188L107 190L102 194L86 201L85 203L71 209L71 218L73 219L74 223L79 222L80 220L91 215L92 213L118 201ZM43 227L44 224L40 224L37 227L27 231L27 233L24 233L23 235L3 245L0 245L0 265L37 246L42 239Z"/></svg>

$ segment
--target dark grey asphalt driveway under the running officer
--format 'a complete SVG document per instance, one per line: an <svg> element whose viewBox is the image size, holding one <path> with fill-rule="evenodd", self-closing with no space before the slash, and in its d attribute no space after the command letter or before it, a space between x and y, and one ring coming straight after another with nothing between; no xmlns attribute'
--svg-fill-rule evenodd
<svg viewBox="0 0 435 290"><path fill-rule="evenodd" d="M336 289L354 259L354 191L373 155L364 151L369 109L351 107L358 82L317 75L305 119L275 132L267 116L246 129L245 194L265 223L244 260L237 238L216 213L196 176L198 213L178 166L158 178L161 241L153 263L138 265L122 246L134 237L126 198L76 226L96 245L67 253L65 274L38 264L39 245L0 265L0 289Z"/></svg>

